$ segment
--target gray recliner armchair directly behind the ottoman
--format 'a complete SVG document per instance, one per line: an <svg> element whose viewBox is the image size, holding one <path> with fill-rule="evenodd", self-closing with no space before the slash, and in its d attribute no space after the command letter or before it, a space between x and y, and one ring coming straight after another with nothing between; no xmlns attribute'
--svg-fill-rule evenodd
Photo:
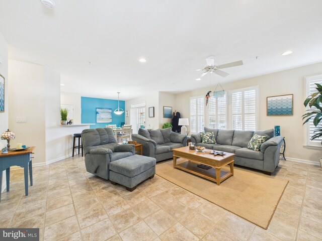
<svg viewBox="0 0 322 241"><path fill-rule="evenodd" d="M86 129L82 132L86 171L109 180L109 165L135 154L133 144L119 145L111 128Z"/></svg>

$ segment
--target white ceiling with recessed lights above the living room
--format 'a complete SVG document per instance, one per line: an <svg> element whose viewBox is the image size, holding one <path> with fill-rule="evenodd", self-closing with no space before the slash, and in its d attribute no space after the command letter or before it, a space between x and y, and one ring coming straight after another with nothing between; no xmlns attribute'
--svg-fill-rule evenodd
<svg viewBox="0 0 322 241"><path fill-rule="evenodd" d="M0 0L0 32L10 58L59 71L61 90L83 96L127 100L322 61L320 0L54 1ZM197 82L210 55L244 65Z"/></svg>

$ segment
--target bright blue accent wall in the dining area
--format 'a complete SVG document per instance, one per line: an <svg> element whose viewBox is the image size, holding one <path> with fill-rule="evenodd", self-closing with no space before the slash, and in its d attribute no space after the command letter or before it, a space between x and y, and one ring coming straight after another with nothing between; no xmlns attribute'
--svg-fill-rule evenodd
<svg viewBox="0 0 322 241"><path fill-rule="evenodd" d="M91 129L105 128L106 125L116 124L121 127L121 123L125 122L125 101L120 100L120 108L124 110L123 114L114 114L117 109L117 100L114 99L99 99L90 97L81 97L82 108L82 123L93 123ZM96 108L111 108L112 109L112 123L96 123Z"/></svg>

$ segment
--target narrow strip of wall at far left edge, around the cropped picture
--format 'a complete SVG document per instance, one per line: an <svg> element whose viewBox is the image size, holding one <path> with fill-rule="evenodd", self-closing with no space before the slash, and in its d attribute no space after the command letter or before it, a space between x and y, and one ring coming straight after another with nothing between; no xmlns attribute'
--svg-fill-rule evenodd
<svg viewBox="0 0 322 241"><path fill-rule="evenodd" d="M2 58L2 63L0 64L0 74L5 77L5 112L0 112L0 135L7 131L9 124L9 94L8 94L8 43L4 36L0 32L0 57ZM7 141L0 139L0 150L7 145ZM3 182L2 187L0 187L0 192L6 187L6 172L3 172Z"/></svg>

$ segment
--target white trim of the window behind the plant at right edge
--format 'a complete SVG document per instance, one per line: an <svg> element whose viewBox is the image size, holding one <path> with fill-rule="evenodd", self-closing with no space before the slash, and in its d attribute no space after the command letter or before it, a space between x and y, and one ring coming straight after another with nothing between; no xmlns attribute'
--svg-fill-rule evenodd
<svg viewBox="0 0 322 241"><path fill-rule="evenodd" d="M307 98L307 96L310 94L310 81L314 81L314 80L322 80L322 74L317 74L317 75L309 75L309 76L305 76L304 77L304 100ZM303 102L304 102L303 100ZM307 106L305 108L305 110L309 109L309 106ZM303 112L303 113L306 113ZM304 120L303 120L304 121ZM305 148L313 148L313 149L321 149L322 146L321 146L321 143L320 142L314 142L314 141L311 141L310 140L310 125L309 123L306 123L305 124L305 128L304 128L304 132L305 132L305 135L304 135L304 144L303 144L303 147Z"/></svg>

